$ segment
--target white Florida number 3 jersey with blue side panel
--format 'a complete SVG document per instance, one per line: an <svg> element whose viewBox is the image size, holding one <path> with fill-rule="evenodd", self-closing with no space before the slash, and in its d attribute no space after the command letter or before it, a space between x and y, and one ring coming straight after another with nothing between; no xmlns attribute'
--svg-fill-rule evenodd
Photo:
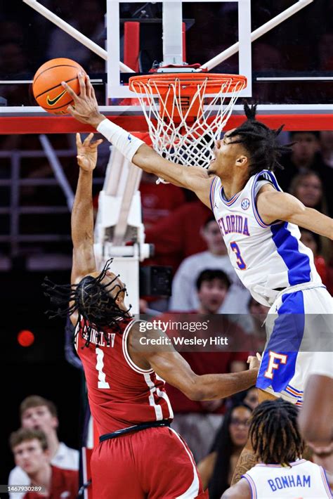
<svg viewBox="0 0 333 499"><path fill-rule="evenodd" d="M322 283L313 261L313 252L300 241L294 223L264 223L256 209L256 195L271 183L282 190L268 170L249 178L240 193L227 200L221 179L211 183L211 209L214 212L230 261L237 276L254 299L271 306L280 290L290 286Z"/></svg>

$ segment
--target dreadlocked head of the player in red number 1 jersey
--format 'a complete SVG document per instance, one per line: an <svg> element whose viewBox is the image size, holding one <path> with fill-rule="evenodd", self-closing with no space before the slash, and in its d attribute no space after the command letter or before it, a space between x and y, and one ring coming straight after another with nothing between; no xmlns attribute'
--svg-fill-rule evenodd
<svg viewBox="0 0 333 499"><path fill-rule="evenodd" d="M124 311L119 309L116 303L119 293L127 294L126 287L121 287L117 283L119 276L115 276L106 285L101 283L111 263L112 259L108 260L96 278L86 276L78 284L58 285L52 283L48 278L44 279L44 294L51 298L51 304L55 307L55 310L48 310L46 313L50 318L53 318L56 316L66 317L78 311L77 326L79 325L79 327L76 326L76 335L81 332L82 337L86 339L86 346L89 346L91 342L93 330L98 331L100 335L103 334L108 344L109 339L105 328L115 326L119 332L122 332L117 320L129 317L131 306ZM71 304L69 304L70 302Z"/></svg>

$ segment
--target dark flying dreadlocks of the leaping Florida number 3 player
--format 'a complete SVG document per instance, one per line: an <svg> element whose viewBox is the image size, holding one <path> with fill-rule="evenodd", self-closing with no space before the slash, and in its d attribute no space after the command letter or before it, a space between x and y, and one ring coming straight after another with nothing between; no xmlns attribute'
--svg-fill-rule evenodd
<svg viewBox="0 0 333 499"><path fill-rule="evenodd" d="M272 130L266 127L265 124L258 122L256 120L256 104L250 108L245 102L244 112L247 121L228 134L228 137L234 138L237 136L238 139L233 140L233 143L242 143L249 152L250 176L263 169L271 171L276 167L283 169L278 160L283 153L290 151L290 145L292 145L280 145L277 141L277 136L284 125L278 130Z"/></svg>

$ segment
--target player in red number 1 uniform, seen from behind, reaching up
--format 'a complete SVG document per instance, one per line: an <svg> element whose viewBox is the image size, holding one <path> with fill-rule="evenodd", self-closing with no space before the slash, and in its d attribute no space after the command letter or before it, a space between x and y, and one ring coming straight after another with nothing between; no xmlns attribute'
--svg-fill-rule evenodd
<svg viewBox="0 0 333 499"><path fill-rule="evenodd" d="M97 271L93 254L92 177L97 148L90 134L77 134L79 180L72 209L72 285L46 283L58 315L71 314L76 347L84 366L89 404L100 443L91 458L96 499L205 498L190 449L169 427L173 413L168 382L192 400L223 398L251 387L259 363L220 375L195 375L172 346L143 351L143 332L124 303L124 283L109 270ZM70 296L68 307L64 299Z"/></svg>

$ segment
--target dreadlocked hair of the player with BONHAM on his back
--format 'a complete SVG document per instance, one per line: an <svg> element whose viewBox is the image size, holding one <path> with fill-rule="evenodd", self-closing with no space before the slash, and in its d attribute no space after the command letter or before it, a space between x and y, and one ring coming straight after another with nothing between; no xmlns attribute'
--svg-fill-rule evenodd
<svg viewBox="0 0 333 499"><path fill-rule="evenodd" d="M297 427L298 414L296 406L282 398L264 401L254 409L249 438L260 462L289 466L301 458L304 441Z"/></svg>

